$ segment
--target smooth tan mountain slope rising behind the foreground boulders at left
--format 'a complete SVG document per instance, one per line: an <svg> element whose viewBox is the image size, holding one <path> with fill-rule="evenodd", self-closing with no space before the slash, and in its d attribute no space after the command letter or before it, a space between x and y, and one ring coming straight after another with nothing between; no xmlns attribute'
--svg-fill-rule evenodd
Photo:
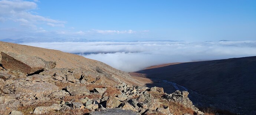
<svg viewBox="0 0 256 115"><path fill-rule="evenodd" d="M7 42L0 42L0 47L0 52L12 52L27 56L37 56L46 61L56 62L55 68L81 68L82 70L96 73L97 68L100 68L103 72L108 74L108 77L104 82L109 83L109 85L114 85L121 82L138 84L137 81L131 79L129 74L122 72L121 70L114 69L105 63L84 58L83 56L61 52L59 50L51 50Z"/></svg>

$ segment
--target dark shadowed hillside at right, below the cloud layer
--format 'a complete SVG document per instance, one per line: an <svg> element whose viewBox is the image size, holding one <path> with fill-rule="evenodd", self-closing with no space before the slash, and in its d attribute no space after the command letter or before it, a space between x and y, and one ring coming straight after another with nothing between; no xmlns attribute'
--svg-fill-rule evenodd
<svg viewBox="0 0 256 115"><path fill-rule="evenodd" d="M255 65L256 56L252 56L180 63L140 70L137 73L151 79L175 82L195 91L197 94L190 96L198 98L194 101L198 104L202 103L202 106L254 115L256 114ZM208 101L201 101L202 98Z"/></svg>

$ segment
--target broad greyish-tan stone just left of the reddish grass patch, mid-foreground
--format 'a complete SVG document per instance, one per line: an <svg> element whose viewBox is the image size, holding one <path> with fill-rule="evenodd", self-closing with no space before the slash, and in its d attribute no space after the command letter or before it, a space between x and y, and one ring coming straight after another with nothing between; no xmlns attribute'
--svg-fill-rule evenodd
<svg viewBox="0 0 256 115"><path fill-rule="evenodd" d="M67 86L66 89L72 96L75 96L78 94L90 93L90 91L86 88L86 86Z"/></svg>

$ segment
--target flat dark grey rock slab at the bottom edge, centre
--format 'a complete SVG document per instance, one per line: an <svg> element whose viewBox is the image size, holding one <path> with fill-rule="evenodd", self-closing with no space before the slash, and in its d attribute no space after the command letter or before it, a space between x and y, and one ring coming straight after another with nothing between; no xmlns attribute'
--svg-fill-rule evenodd
<svg viewBox="0 0 256 115"><path fill-rule="evenodd" d="M106 109L106 111L95 111L90 113L89 115L141 115L141 114L131 110L122 110L120 108L115 108L115 109Z"/></svg>

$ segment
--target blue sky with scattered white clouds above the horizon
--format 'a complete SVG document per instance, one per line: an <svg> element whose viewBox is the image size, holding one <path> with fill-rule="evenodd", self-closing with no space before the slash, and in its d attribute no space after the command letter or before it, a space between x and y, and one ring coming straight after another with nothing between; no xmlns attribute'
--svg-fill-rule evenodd
<svg viewBox="0 0 256 115"><path fill-rule="evenodd" d="M0 0L0 39L256 40L256 0Z"/></svg>

